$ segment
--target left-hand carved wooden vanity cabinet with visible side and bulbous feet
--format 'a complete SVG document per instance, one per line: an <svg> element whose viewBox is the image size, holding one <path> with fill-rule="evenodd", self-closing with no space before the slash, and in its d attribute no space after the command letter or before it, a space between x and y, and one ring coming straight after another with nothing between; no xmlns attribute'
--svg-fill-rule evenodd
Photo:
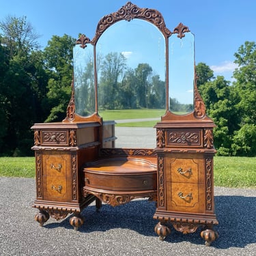
<svg viewBox="0 0 256 256"><path fill-rule="evenodd" d="M81 211L96 198L82 196L81 168L98 158L101 126L98 122L35 124L36 200L40 211L35 220L43 225L51 216L57 220L70 213L70 224L83 224Z"/></svg>

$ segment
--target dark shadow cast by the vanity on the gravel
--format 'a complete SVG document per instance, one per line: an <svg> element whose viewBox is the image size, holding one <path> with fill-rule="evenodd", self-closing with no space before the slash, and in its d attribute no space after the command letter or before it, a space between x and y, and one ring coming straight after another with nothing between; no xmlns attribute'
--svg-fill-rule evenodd
<svg viewBox="0 0 256 256"><path fill-rule="evenodd" d="M248 244L256 243L256 197L216 196L215 205L219 225L214 229L218 231L219 238L211 246L221 249L244 248ZM82 216L85 222L78 232L131 229L143 236L156 236L154 227L158 221L152 218L155 210L155 203L147 200L132 201L115 208L104 204L100 212L96 212L95 206L91 205L83 210ZM45 223L44 227L72 229L69 218L59 223ZM165 242L204 244L200 231L201 229L198 229L196 233L184 235L171 227L171 234L165 238Z"/></svg>

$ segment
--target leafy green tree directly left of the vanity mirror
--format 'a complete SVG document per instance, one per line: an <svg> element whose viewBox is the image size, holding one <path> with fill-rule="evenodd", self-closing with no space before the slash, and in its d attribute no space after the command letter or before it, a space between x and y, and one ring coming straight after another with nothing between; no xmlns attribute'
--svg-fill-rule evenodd
<svg viewBox="0 0 256 256"><path fill-rule="evenodd" d="M44 107L50 109L46 122L61 121L71 95L74 38L64 34L53 35L44 48L44 61L48 70L48 93Z"/></svg>

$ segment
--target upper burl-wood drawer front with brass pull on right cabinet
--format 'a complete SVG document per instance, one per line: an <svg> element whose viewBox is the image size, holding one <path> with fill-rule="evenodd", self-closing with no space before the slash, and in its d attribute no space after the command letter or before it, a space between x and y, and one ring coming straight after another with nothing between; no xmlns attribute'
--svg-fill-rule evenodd
<svg viewBox="0 0 256 256"><path fill-rule="evenodd" d="M167 158L167 182L203 183L203 159Z"/></svg>

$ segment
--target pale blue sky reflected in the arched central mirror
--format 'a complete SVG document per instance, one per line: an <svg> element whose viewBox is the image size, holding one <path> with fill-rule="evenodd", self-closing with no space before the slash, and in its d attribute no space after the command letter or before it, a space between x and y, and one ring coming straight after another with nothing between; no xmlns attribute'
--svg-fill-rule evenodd
<svg viewBox="0 0 256 256"><path fill-rule="evenodd" d="M122 53L129 68L148 63L165 81L165 38L145 20L121 20L106 29L97 42L97 54Z"/></svg>

